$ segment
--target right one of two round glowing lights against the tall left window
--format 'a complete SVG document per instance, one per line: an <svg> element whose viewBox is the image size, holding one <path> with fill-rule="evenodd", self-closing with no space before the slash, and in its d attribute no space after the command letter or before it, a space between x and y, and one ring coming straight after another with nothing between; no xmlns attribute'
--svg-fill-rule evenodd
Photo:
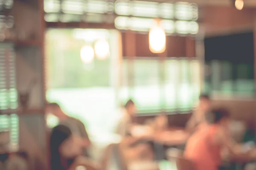
<svg viewBox="0 0 256 170"><path fill-rule="evenodd" d="M106 40L99 40L94 45L96 57L98 59L106 59L109 57L109 44Z"/></svg>

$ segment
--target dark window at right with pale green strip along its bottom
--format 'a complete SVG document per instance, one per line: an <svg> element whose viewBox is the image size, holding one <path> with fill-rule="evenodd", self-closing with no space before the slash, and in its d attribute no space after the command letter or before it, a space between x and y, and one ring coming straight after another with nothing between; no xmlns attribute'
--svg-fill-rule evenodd
<svg viewBox="0 0 256 170"><path fill-rule="evenodd" d="M253 32L205 39L205 87L208 93L253 97Z"/></svg>

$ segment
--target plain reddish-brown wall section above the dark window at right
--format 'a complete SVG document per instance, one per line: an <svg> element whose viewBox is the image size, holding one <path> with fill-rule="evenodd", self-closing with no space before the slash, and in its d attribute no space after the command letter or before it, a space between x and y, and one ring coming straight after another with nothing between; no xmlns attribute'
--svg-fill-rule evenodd
<svg viewBox="0 0 256 170"><path fill-rule="evenodd" d="M227 34L253 28L256 10L234 6L204 6L200 8L201 26L207 36Z"/></svg>

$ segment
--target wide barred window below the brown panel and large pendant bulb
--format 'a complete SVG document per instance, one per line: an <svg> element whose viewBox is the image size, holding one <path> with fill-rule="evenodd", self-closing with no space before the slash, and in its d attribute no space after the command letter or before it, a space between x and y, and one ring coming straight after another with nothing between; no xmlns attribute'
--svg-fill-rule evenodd
<svg viewBox="0 0 256 170"><path fill-rule="evenodd" d="M189 111L200 93L199 61L189 58L123 60L120 100L134 99L139 113Z"/></svg>

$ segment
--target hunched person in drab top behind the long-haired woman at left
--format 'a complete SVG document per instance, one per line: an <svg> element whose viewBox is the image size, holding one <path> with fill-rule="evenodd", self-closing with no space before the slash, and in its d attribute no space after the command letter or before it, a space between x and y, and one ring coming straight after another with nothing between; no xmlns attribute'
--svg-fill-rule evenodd
<svg viewBox="0 0 256 170"><path fill-rule="evenodd" d="M73 117L70 117L62 111L58 103L49 103L47 105L47 113L52 113L57 116L59 119L60 125L65 125L70 128L71 132L81 138L83 155L90 157L88 148L90 147L90 139L87 134L87 131L84 127L84 124L79 120Z"/></svg>

